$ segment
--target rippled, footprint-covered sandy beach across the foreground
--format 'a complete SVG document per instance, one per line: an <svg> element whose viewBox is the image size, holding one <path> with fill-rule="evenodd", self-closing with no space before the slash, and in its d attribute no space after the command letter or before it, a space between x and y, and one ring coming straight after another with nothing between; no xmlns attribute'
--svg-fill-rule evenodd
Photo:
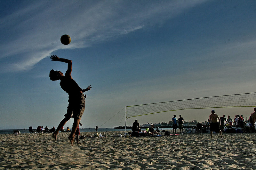
<svg viewBox="0 0 256 170"><path fill-rule="evenodd" d="M93 135L84 132L81 135ZM85 138L69 133L2 134L0 169L256 169L255 133Z"/></svg>

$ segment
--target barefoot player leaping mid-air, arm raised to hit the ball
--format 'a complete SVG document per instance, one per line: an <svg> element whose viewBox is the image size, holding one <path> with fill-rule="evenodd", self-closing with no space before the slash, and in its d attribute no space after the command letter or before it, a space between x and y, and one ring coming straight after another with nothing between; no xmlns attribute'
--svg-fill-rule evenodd
<svg viewBox="0 0 256 170"><path fill-rule="evenodd" d="M91 90L91 85L88 86L86 89L81 89L76 81L72 79L71 72L72 72L72 61L64 58L59 58L57 55L51 56L52 61L60 61L68 64L68 69L65 75L60 71L51 70L49 77L52 81L60 80L60 87L68 93L68 109L67 113L64 115L65 118L60 121L59 126L57 127L56 131L52 134L52 138L55 140L57 139L57 135L60 129L68 122L68 120L73 117L74 123L72 125L72 131L68 136L71 145L74 143L75 139L75 132L78 128L80 123L81 117L84 113L85 108L85 97L83 92Z"/></svg>

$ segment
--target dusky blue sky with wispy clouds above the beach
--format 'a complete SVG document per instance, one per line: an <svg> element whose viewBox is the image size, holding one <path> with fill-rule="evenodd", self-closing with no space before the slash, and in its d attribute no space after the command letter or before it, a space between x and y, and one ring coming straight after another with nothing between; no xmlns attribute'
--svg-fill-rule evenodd
<svg viewBox="0 0 256 170"><path fill-rule="evenodd" d="M255 92L256 1L4 1L0 8L0 129L59 124L68 94L49 71L67 64L53 54L73 61L81 88L92 85L84 128L124 125L129 105ZM215 110L231 118L253 112ZM210 109L127 124L173 114L201 122Z"/></svg>

